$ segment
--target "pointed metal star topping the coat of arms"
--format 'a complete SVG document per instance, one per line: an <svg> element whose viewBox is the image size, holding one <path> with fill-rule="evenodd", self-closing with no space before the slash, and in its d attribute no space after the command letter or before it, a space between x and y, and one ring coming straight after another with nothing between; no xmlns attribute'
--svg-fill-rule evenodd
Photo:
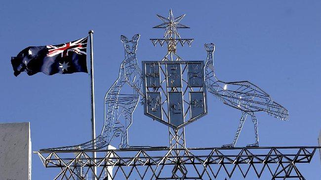
<svg viewBox="0 0 321 180"><path fill-rule="evenodd" d="M157 14L157 16L163 21L163 23L160 25L157 25L153 28L165 28L166 30L165 30L164 37L166 37L168 34L170 36L171 36L171 34L175 34L178 37L181 37L181 36L179 36L177 28L189 28L189 27L179 23L183 19L183 17L185 16L185 14L174 18L173 13L172 13L172 9L169 9L168 18L164 18L158 14Z"/></svg>

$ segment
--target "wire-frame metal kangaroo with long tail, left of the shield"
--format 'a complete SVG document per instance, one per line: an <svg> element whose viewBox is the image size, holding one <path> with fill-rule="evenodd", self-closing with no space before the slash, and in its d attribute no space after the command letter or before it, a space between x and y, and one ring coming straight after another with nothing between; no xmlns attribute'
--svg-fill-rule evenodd
<svg viewBox="0 0 321 180"><path fill-rule="evenodd" d="M129 148L128 128L132 123L132 113L139 101L142 84L142 71L136 59L137 42L140 35L132 39L121 35L124 44L125 59L120 64L119 76L105 96L105 120L101 134L94 140L75 145L42 150L90 150L102 149L111 144L115 137L120 137L119 147ZM94 145L95 143L95 145Z"/></svg>

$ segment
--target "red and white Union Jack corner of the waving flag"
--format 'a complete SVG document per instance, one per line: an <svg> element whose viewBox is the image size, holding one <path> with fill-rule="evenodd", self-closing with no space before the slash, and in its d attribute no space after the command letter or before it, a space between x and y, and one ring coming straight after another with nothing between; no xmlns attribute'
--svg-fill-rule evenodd
<svg viewBox="0 0 321 180"><path fill-rule="evenodd" d="M68 56L70 51L75 52L80 55L86 55L88 37L78 39L76 41L67 42L60 45L48 45L48 57L53 57L61 54L61 57Z"/></svg>

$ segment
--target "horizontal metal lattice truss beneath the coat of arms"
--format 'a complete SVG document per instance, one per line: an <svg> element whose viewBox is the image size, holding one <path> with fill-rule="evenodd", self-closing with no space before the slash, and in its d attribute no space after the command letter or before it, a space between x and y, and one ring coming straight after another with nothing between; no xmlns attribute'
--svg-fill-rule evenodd
<svg viewBox="0 0 321 180"><path fill-rule="evenodd" d="M318 148L179 149L184 151L181 155L176 155L178 149L100 150L96 161L89 156L89 150L38 154L45 167L60 168L54 180L84 180L94 166L98 167L97 180L213 180L240 176L251 180L305 180L297 165L310 163ZM68 158L71 153L76 157Z"/></svg>

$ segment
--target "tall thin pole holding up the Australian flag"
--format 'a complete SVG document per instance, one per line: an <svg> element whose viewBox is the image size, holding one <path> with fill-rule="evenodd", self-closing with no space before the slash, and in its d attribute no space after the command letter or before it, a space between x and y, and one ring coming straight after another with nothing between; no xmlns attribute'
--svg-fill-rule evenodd
<svg viewBox="0 0 321 180"><path fill-rule="evenodd" d="M92 48L92 34L94 33L93 30L89 30L89 44L90 44L90 90L91 90L91 130L92 130L92 139L96 138L96 128L95 128L95 98L94 98L94 55L93 55L93 48ZM93 149L96 149L95 141L93 143ZM92 153L94 161L96 161L96 152ZM94 166L94 174L92 176L93 180L96 180L97 168Z"/></svg>

